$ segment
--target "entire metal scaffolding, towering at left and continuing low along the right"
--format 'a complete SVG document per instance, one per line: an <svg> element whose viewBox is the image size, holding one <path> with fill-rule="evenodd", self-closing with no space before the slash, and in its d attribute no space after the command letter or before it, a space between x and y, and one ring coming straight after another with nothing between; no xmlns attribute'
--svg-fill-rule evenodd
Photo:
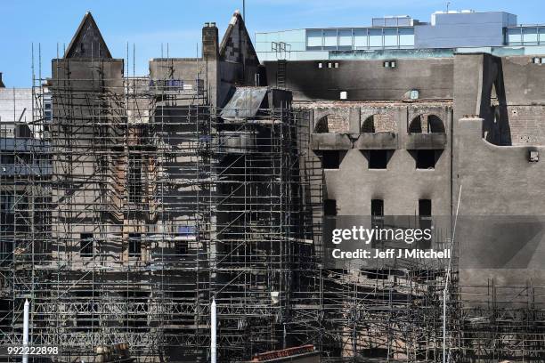
<svg viewBox="0 0 545 363"><path fill-rule="evenodd" d="M157 61L161 79L102 59L35 77L33 137L2 149L0 343L21 342L28 299L55 361L121 343L204 362L214 298L221 361L309 343L331 362L542 359L543 287L460 286L455 262L324 266L307 111L266 87L248 92L285 102L217 109L206 79Z"/></svg>

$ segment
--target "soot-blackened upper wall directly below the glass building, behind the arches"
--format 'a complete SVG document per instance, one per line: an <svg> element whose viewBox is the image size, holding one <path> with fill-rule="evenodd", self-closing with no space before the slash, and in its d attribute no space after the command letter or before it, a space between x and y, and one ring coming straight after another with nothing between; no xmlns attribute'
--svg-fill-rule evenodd
<svg viewBox="0 0 545 363"><path fill-rule="evenodd" d="M394 59L393 59L394 60ZM289 61L286 87L294 100L339 100L346 91L350 101L403 100L411 90L421 99L452 98L452 59L395 60L395 68L385 68L384 60ZM276 85L277 63L265 62L269 85Z"/></svg>

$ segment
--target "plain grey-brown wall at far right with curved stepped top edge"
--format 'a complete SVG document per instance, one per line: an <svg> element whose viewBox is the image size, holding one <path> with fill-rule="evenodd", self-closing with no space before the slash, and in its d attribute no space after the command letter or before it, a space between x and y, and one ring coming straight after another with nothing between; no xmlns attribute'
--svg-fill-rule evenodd
<svg viewBox="0 0 545 363"><path fill-rule="evenodd" d="M460 284L486 286L494 278L499 286L525 286L529 279L542 286L545 237L541 230L525 239L525 230L536 223L543 225L545 192L540 181L545 168L542 159L530 163L528 157L531 149L545 155L545 148L492 145L482 138L483 122L482 118L460 119L456 138L460 218L466 221L458 238L462 243ZM459 190L455 190L457 195ZM483 216L487 219L478 235L463 228L469 225L468 219ZM522 230L502 230L499 221L522 221L516 225ZM512 254L502 255L509 252L506 250Z"/></svg>

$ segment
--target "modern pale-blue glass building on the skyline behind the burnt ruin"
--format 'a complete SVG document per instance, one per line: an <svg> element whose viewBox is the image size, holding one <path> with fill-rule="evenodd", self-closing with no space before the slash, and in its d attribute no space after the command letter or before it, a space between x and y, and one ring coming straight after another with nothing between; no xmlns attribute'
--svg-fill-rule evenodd
<svg viewBox="0 0 545 363"><path fill-rule="evenodd" d="M391 51L409 56L454 52L540 54L545 25L517 25L508 12L434 12L429 22L408 15L373 18L369 27L304 28L256 33L260 60L369 58ZM427 50L426 52L414 52ZM402 51L402 52L398 52Z"/></svg>

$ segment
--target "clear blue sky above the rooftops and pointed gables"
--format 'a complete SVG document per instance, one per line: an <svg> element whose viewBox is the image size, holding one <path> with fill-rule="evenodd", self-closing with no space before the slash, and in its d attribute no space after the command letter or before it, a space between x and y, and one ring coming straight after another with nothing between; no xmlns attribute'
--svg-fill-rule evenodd
<svg viewBox="0 0 545 363"><path fill-rule="evenodd" d="M150 6L153 4L153 6ZM51 59L57 44L63 47L86 11L93 12L102 36L115 58L126 58L130 49L130 72L148 73L147 60L161 55L161 43L171 57L194 57L200 49L200 29L216 21L220 38L232 12L242 0L0 0L0 72L8 87L32 83L31 45L41 44L42 75L51 74ZM246 18L250 34L286 28L367 26L383 15L411 15L429 21L430 14L445 10L446 1L435 0L247 0ZM518 15L519 23L545 23L543 0L452 0L451 10L506 11Z"/></svg>

